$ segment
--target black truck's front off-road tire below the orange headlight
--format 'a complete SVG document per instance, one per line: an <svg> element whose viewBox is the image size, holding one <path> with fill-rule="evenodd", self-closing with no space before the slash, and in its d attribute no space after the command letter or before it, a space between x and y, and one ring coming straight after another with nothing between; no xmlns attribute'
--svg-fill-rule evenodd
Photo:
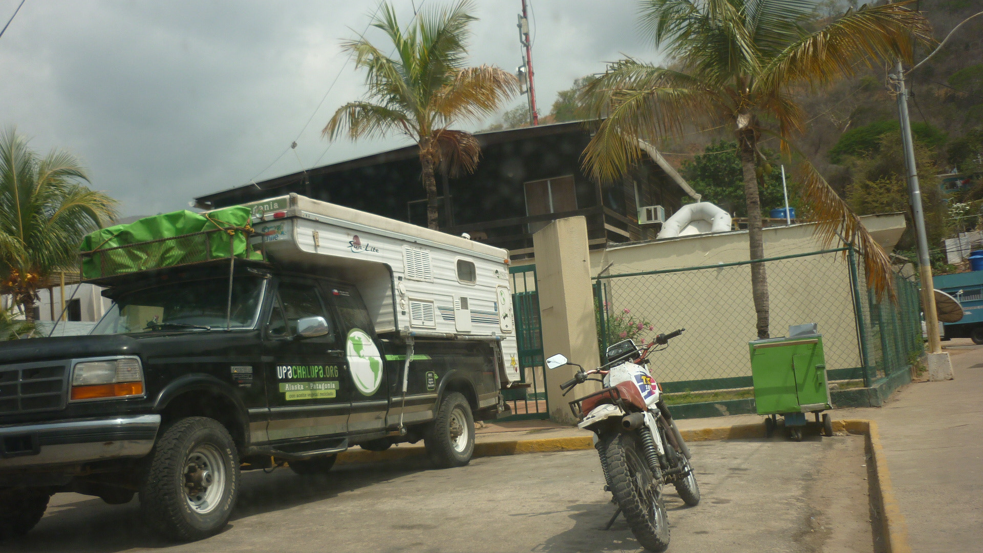
<svg viewBox="0 0 983 553"><path fill-rule="evenodd" d="M217 454L212 472L219 469L220 463L224 474L220 478L221 493L210 502L214 508L206 513L192 508L185 473L188 463L202 451ZM224 426L201 416L180 419L163 431L147 460L140 488L141 511L147 525L179 541L203 539L225 527L239 497L239 452Z"/></svg>

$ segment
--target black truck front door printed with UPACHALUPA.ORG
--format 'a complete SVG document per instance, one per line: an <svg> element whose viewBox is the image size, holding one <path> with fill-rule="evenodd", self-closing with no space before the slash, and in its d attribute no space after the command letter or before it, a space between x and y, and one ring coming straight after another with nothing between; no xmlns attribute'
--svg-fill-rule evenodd
<svg viewBox="0 0 983 553"><path fill-rule="evenodd" d="M271 442L304 441L348 430L350 388L344 336L313 280L279 281L263 340ZM328 333L297 336L298 322L323 317Z"/></svg>

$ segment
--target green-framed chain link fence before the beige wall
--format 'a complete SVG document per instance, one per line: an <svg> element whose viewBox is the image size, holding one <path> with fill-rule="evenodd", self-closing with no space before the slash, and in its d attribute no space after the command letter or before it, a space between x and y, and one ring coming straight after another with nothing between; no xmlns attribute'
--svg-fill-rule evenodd
<svg viewBox="0 0 983 553"><path fill-rule="evenodd" d="M917 285L896 276L898 301L878 301L863 264L839 248L763 260L773 337L817 323L831 380L873 380L907 370L921 352ZM751 386L757 338L750 262L596 277L602 351L624 338L685 328L650 368L667 393ZM858 271L858 267L860 270Z"/></svg>

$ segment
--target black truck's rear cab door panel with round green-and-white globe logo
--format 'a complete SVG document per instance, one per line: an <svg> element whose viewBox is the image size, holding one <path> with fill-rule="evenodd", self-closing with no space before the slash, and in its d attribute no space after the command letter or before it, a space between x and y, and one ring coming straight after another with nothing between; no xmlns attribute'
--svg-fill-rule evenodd
<svg viewBox="0 0 983 553"><path fill-rule="evenodd" d="M348 371L342 375L351 390L348 432L356 434L385 429L389 408L385 363L376 330L362 297L354 286L324 283L328 303L337 314Z"/></svg>

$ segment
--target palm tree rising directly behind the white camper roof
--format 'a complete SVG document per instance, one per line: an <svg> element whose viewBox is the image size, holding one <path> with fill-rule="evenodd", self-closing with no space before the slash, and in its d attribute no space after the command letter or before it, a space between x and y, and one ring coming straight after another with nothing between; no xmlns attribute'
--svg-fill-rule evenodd
<svg viewBox="0 0 983 553"><path fill-rule="evenodd" d="M419 13L418 21L401 31L392 6L383 4L372 26L392 41L386 55L365 36L342 47L366 70L365 101L352 101L334 112L321 132L334 140L347 130L352 140L400 133L420 147L420 165L427 191L427 224L437 228L434 167L447 174L471 172L481 148L468 132L450 125L479 122L518 92L518 80L497 67L465 67L468 25L477 18L470 0L449 9Z"/></svg>

